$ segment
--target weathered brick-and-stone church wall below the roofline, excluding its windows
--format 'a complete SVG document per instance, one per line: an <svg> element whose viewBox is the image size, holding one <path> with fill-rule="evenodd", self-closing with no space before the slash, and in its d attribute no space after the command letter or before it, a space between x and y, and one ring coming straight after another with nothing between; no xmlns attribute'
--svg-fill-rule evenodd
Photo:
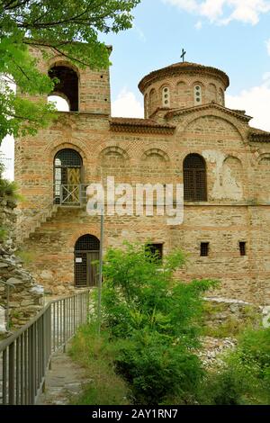
<svg viewBox="0 0 270 423"><path fill-rule="evenodd" d="M81 81L92 78L87 75ZM103 84L109 89L108 81L99 85L96 79L96 89L105 89ZM95 91L91 84L85 86L90 99ZM31 225L29 216L52 202L53 159L62 148L80 153L85 184L99 182L101 168L103 180L110 175L130 184L181 184L184 157L197 153L206 162L208 201L186 202L178 226L168 226L160 217L106 217L105 246L121 246L127 239L164 243L165 254L182 247L189 253L189 265L179 273L184 280L214 277L222 281L215 295L269 304L270 143L248 139L248 118L211 103L166 116L157 113L155 119L175 125L175 131L154 131L147 122L132 127L132 121L116 131L105 110L97 114L90 109L59 112L49 130L16 140L15 175L26 198L24 224ZM30 267L41 284L61 293L73 286L74 246L86 233L99 238L99 219L85 210L62 208L25 241L24 247L36 252ZM240 241L247 242L245 257L240 257ZM210 243L209 257L200 257L201 242Z"/></svg>

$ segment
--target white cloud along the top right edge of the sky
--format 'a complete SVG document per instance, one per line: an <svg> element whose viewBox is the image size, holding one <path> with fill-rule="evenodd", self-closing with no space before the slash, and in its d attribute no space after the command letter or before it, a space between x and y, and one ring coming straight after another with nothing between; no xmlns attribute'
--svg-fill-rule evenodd
<svg viewBox="0 0 270 423"><path fill-rule="evenodd" d="M231 21L256 25L260 15L270 11L269 0L163 0L185 12L201 15L211 23L227 25Z"/></svg>

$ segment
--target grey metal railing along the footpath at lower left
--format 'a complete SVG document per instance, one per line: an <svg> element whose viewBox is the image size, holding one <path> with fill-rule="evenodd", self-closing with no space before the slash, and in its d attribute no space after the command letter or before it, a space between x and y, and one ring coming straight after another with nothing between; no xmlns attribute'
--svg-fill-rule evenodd
<svg viewBox="0 0 270 423"><path fill-rule="evenodd" d="M0 342L0 404L34 404L44 388L51 356L87 320L89 290L49 304Z"/></svg>

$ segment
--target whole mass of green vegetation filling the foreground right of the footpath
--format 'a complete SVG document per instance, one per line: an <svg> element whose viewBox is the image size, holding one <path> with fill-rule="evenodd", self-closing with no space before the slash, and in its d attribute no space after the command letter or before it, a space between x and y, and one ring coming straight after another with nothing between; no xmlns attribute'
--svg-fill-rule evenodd
<svg viewBox="0 0 270 423"><path fill-rule="evenodd" d="M76 404L269 404L270 329L241 327L224 365L203 368L202 296L218 283L175 281L184 261L178 250L162 263L137 245L108 250L101 335L94 311L70 351L93 379Z"/></svg>

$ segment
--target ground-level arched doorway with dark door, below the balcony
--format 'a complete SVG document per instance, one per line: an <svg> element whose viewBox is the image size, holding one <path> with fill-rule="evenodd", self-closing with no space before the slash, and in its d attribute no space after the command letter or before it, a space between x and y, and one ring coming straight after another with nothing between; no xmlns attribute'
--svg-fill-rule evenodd
<svg viewBox="0 0 270 423"><path fill-rule="evenodd" d="M98 282L99 239L94 235L83 235L75 245L75 285L77 287L95 286Z"/></svg>

